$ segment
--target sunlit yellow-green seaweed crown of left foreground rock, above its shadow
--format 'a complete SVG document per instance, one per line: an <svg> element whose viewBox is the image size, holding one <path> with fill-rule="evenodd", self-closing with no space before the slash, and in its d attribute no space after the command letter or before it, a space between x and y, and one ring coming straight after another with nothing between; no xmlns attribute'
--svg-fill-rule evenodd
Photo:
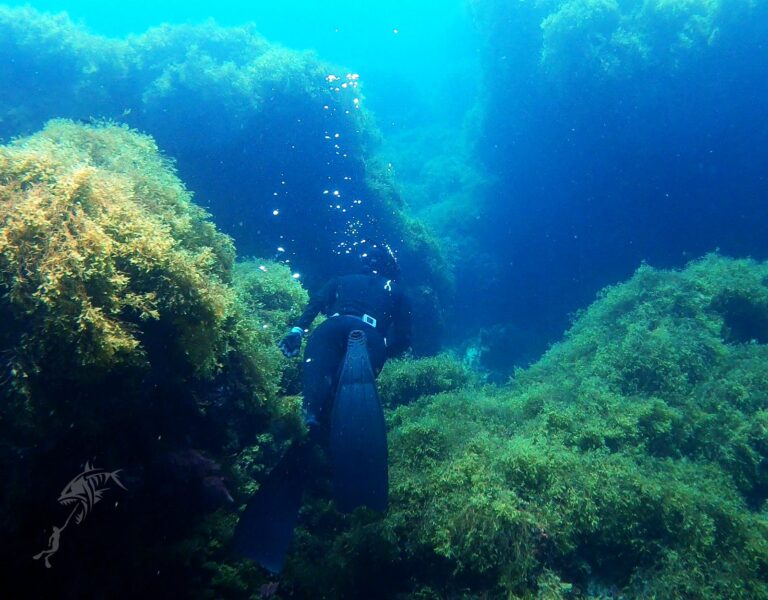
<svg viewBox="0 0 768 600"><path fill-rule="evenodd" d="M155 324L172 332L164 352L216 370L234 247L151 138L53 121L0 150L0 186L11 387L146 366Z"/></svg>

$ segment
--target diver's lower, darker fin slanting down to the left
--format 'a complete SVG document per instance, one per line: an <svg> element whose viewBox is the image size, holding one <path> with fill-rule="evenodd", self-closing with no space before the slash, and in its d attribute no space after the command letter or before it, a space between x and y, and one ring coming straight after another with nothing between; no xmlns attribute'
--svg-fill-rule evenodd
<svg viewBox="0 0 768 600"><path fill-rule="evenodd" d="M283 568L306 481L306 444L291 447L248 501L235 528L235 550L272 573Z"/></svg>

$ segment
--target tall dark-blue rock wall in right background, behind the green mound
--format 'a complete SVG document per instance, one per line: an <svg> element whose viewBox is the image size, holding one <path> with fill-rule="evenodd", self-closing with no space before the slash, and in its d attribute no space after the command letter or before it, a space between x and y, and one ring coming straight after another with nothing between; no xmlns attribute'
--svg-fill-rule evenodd
<svg viewBox="0 0 768 600"><path fill-rule="evenodd" d="M469 331L524 322L552 342L643 260L768 256L765 2L468 4L485 40L476 156L495 177L466 232L491 259L464 269L457 303L480 298L467 318L485 318Z"/></svg>

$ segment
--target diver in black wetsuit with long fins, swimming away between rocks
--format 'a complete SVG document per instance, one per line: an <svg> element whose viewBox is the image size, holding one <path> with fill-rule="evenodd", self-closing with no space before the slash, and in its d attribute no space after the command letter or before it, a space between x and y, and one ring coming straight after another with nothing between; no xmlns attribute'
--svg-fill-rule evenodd
<svg viewBox="0 0 768 600"><path fill-rule="evenodd" d="M386 423L376 377L387 358L410 346L411 308L395 282L399 265L387 245L360 254L360 272L334 277L313 295L296 326L278 346L297 356L319 313L327 315L304 351L304 418L309 435L292 446L248 502L235 531L235 547L273 573L282 569L312 451L330 451L336 506L386 510Z"/></svg>

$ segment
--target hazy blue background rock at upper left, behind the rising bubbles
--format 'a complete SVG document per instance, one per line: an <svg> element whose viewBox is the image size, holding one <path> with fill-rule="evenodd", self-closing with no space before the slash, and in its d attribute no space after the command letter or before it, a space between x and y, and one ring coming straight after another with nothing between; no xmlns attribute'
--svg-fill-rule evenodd
<svg viewBox="0 0 768 600"><path fill-rule="evenodd" d="M290 261L313 287L350 268L355 242L386 240L404 277L447 302L438 243L374 157L379 134L357 73L252 26L163 26L117 40L31 9L0 8L0 51L13 57L0 74L11 91L0 98L0 137L53 117L126 123L174 157L241 255ZM433 311L422 313L437 329Z"/></svg>

